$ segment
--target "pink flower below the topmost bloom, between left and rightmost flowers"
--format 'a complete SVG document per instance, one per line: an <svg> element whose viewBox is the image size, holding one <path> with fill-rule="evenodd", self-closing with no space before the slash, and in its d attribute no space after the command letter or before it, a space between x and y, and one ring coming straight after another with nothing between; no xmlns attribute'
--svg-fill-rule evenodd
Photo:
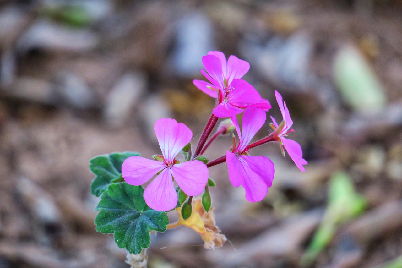
<svg viewBox="0 0 402 268"><path fill-rule="evenodd" d="M230 182L234 187L239 185L244 187L248 201L261 201L267 195L268 188L272 186L275 167L267 157L248 155L247 144L263 126L267 115L262 109L247 107L243 113L242 133L236 116L231 119L240 143L236 148L232 148L232 152L226 152Z"/></svg>

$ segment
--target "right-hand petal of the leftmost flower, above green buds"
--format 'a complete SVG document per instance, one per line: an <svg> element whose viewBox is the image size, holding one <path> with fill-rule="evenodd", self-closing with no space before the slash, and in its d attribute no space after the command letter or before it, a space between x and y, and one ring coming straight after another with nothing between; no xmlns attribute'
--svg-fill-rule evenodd
<svg viewBox="0 0 402 268"><path fill-rule="evenodd" d="M208 182L209 171L201 161L194 160L175 164L171 170L178 186L188 196L201 194Z"/></svg>

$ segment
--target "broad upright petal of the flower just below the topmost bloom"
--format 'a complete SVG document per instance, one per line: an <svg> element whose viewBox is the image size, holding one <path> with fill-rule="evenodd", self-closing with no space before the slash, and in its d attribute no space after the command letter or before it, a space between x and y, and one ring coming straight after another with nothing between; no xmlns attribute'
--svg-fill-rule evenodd
<svg viewBox="0 0 402 268"><path fill-rule="evenodd" d="M239 149L244 148L264 125L267 115L260 108L247 107L243 113L242 138Z"/></svg>

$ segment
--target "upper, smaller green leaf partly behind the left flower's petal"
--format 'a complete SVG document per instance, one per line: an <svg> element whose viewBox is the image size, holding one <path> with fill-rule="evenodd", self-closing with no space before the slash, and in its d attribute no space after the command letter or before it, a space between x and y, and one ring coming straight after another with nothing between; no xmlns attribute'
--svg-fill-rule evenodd
<svg viewBox="0 0 402 268"><path fill-rule="evenodd" d="M125 159L139 156L135 152L111 153L98 155L89 161L89 168L96 175L91 184L91 193L100 196L110 183L123 181L121 165Z"/></svg>

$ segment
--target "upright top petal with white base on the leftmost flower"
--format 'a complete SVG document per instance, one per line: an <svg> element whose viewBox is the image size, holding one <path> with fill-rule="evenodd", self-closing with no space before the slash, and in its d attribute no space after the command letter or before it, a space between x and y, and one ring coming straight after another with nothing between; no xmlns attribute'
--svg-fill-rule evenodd
<svg viewBox="0 0 402 268"><path fill-rule="evenodd" d="M158 138L160 149L166 161L172 163L174 157L186 146L193 133L183 123L177 123L170 118L161 118L154 126L156 138Z"/></svg>

